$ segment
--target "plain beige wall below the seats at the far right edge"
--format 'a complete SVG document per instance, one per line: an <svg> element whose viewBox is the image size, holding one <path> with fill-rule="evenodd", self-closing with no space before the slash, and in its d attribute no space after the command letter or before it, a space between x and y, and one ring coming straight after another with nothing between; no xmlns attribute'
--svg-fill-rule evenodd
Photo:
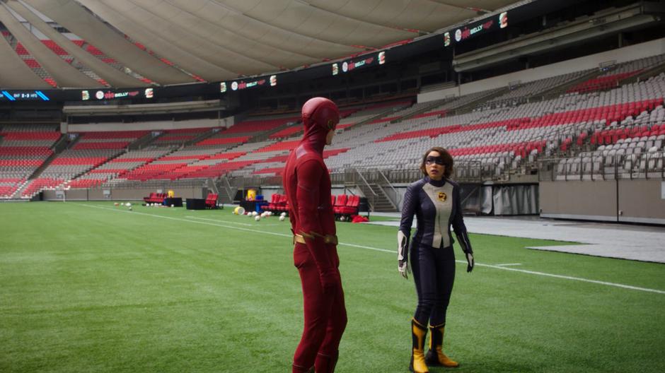
<svg viewBox="0 0 665 373"><path fill-rule="evenodd" d="M665 182L540 182L540 216L665 224Z"/></svg>

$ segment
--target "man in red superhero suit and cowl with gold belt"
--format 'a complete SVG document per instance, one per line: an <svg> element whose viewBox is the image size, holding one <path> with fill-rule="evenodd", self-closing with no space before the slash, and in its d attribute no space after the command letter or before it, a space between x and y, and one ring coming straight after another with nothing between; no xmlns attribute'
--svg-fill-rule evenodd
<svg viewBox="0 0 665 373"><path fill-rule="evenodd" d="M284 191L294 232L294 265L303 287L305 326L294 355L293 372L331 373L347 324L342 280L337 268L335 215L330 175L323 163L328 134L340 122L334 102L315 97L302 109L305 134L284 168Z"/></svg>

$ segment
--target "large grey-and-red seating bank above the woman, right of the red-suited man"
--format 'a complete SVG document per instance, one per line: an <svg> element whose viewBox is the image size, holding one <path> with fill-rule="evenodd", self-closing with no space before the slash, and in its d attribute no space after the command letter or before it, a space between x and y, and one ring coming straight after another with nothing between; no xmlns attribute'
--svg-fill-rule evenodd
<svg viewBox="0 0 665 373"><path fill-rule="evenodd" d="M332 170L345 167L412 168L429 146L446 146L459 160L475 160L496 167L497 174L539 154L567 150L567 144L596 127L649 116L662 103L663 76L625 85L608 92L564 95L555 100L480 109L446 117L421 117L384 124L381 131L366 126L349 129L335 138L351 150L327 160ZM640 114L642 113L642 114ZM358 144L358 145L357 145ZM488 145L490 144L490 145ZM333 145L335 147L337 145ZM497 148L497 146L499 146ZM563 147L563 148L562 148ZM417 149L417 150L416 150Z"/></svg>

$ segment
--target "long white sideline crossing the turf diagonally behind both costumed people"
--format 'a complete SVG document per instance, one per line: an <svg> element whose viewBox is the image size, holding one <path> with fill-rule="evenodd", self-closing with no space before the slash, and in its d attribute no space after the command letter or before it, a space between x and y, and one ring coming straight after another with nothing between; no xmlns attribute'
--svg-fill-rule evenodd
<svg viewBox="0 0 665 373"><path fill-rule="evenodd" d="M187 222L187 223L195 223L195 224L212 225L214 227L223 227L223 228L228 228L228 229L231 229L231 230L245 230L245 231L253 232L253 233L264 233L266 235L289 237L289 239L291 239L293 237L291 235L284 235L283 233L265 232L265 231L261 232L261 231L256 231L256 230L250 230L248 228L243 228L243 227L232 227L230 225L207 223L207 222L197 221L197 220L171 218L170 216L154 215L154 214L149 214L149 213L139 213L137 211L127 211L124 208L121 210L121 209L118 209L118 208L108 208L108 207L105 207L105 206L91 206L91 205L85 205L85 204L82 204L82 203L74 203L74 204L79 205L79 206L84 206L84 207L90 207L90 208L100 208L102 210L108 210L108 211L117 211L117 212L121 212L121 213L131 213L131 214L134 214L134 215L146 215L146 216L151 216L151 217L154 217L154 218L162 218L162 219L168 219L168 220L178 220L178 221L183 221L183 222ZM344 242L340 242L339 244L341 246L358 247L360 249L369 249L369 250L374 250L374 251L384 251L384 252L391 253L391 254L397 254L396 249L395 250L378 249L377 247L362 246L362 245L357 245L357 244L345 244ZM464 265L467 264L466 261L456 261L456 262L459 263L459 264L464 264ZM629 289L629 290L639 290L639 291L644 291L644 292L656 292L658 294L665 294L665 290L639 288L637 286L624 285L624 284L620 284L620 283L608 283L608 282L605 282L605 281L589 280L588 278L562 276L562 275L555 275L553 273L545 273L545 272L537 272L537 271L526 271L524 269L501 267L501 266L492 266L491 264L476 263L475 266L502 269L504 271L513 271L513 272L519 272L519 273L528 273L530 275L536 275L536 276L562 278L564 280L581 281L583 283L595 283L595 284L598 284L598 285L613 286L615 288L623 288L623 289Z"/></svg>

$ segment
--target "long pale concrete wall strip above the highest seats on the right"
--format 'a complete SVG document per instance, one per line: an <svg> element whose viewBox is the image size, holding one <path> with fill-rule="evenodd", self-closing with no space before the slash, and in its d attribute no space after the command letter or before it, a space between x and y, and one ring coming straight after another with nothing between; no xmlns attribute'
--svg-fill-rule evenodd
<svg viewBox="0 0 665 373"><path fill-rule="evenodd" d="M558 62L547 66L536 67L535 69L526 69L509 73L507 75L496 76L494 78L483 79L472 83L462 84L459 87L448 88L445 90L436 90L418 95L418 102L427 102L432 100L441 100L450 95L468 95L470 93L480 92L494 88L507 87L508 83L521 81L527 83L539 79L551 78L553 76L572 73L585 69L595 69L598 64L607 61L616 61L617 64L641 59L644 57L657 56L665 53L665 38L644 42L630 47L614 49L608 52L592 54L591 56L570 59L568 61Z"/></svg>

